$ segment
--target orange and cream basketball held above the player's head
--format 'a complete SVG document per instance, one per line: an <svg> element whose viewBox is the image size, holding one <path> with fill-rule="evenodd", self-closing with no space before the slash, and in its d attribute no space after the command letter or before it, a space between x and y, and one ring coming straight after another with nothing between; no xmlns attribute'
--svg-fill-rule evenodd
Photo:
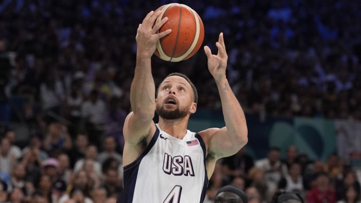
<svg viewBox="0 0 361 203"><path fill-rule="evenodd" d="M191 58L201 48L204 39L204 26L201 18L190 7L183 4L168 4L159 7L159 22L164 17L168 21L159 29L172 32L159 39L154 52L164 61L179 62Z"/></svg>

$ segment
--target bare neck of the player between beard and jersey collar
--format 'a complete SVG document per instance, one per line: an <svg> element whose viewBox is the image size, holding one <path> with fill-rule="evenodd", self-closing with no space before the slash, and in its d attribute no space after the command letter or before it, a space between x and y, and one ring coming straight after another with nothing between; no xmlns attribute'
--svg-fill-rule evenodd
<svg viewBox="0 0 361 203"><path fill-rule="evenodd" d="M175 119L175 120L167 120L159 117L158 125L160 129L169 135L183 139L187 133L187 125L188 125L188 117Z"/></svg>

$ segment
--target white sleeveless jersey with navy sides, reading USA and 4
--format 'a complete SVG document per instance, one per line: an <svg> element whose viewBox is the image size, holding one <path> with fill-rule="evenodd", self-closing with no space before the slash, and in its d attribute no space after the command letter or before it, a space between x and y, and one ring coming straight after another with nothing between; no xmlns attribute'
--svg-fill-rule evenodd
<svg viewBox="0 0 361 203"><path fill-rule="evenodd" d="M117 202L202 203L208 186L203 139L189 130L177 139L156 128L144 152L124 166Z"/></svg>

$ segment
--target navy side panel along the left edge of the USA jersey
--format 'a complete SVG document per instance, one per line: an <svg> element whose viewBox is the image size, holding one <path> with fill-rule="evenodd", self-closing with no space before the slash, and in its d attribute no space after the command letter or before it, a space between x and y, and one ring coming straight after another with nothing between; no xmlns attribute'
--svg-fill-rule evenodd
<svg viewBox="0 0 361 203"><path fill-rule="evenodd" d="M159 129L156 128L152 139L150 140L148 146L145 148L142 154L135 159L132 163L123 167L123 189L120 192L117 202L118 203L131 203L133 201L134 188L138 175L138 169L140 165L140 161L144 158L144 156L150 151L150 149L154 146L156 140L159 136Z"/></svg>

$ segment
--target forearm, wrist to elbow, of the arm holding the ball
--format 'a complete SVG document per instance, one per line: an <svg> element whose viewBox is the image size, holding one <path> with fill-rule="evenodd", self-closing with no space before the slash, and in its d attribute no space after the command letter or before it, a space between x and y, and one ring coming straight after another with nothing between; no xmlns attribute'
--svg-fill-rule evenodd
<svg viewBox="0 0 361 203"><path fill-rule="evenodd" d="M155 87L151 74L150 57L137 56L134 78L130 87L130 104L134 114L153 117Z"/></svg>

